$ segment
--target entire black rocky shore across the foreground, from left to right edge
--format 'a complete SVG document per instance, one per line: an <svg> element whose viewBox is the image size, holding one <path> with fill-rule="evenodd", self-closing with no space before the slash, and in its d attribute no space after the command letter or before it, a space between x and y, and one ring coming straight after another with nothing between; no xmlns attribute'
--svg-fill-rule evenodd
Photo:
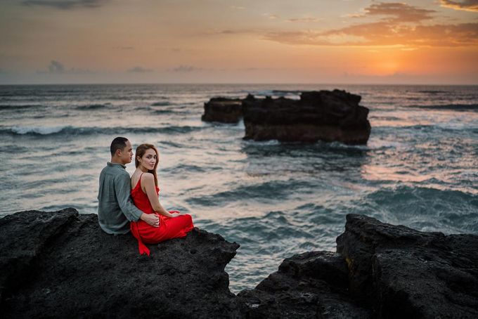
<svg viewBox="0 0 478 319"><path fill-rule="evenodd" d="M0 219L1 318L478 318L478 236L347 215L337 252L304 252L237 296L239 245L195 228L149 245L107 235L95 214Z"/></svg>

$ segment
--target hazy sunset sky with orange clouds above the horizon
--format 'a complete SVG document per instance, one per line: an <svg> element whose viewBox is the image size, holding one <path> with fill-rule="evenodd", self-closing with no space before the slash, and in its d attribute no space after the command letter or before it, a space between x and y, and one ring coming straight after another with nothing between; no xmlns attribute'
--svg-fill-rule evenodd
<svg viewBox="0 0 478 319"><path fill-rule="evenodd" d="M0 84L478 84L478 0L1 0Z"/></svg>

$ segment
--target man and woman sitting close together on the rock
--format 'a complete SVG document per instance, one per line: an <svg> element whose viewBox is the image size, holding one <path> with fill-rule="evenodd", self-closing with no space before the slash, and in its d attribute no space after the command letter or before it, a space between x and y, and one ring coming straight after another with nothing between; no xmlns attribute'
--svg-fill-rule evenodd
<svg viewBox="0 0 478 319"><path fill-rule="evenodd" d="M157 244L184 237L193 229L188 214L167 211L158 199L156 168L157 149L151 144L136 148L136 170L131 178L126 164L133 159L133 148L127 138L117 137L110 146L111 162L100 174L98 221L108 234L131 234L138 240L140 254L150 255L146 244ZM132 199L132 201L131 201Z"/></svg>

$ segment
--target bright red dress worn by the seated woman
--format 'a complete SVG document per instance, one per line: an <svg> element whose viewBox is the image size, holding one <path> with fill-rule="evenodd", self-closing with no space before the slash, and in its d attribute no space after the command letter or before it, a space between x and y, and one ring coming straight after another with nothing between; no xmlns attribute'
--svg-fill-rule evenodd
<svg viewBox="0 0 478 319"><path fill-rule="evenodd" d="M143 174L141 174L142 176ZM141 209L146 214L157 214L148 199L148 195L141 189L141 176L136 186L131 190L131 198L138 209ZM160 188L156 186L156 193L159 195ZM179 211L169 211L170 213L179 213ZM141 219L138 221L131 221L129 228L131 234L138 240L139 254L150 255L150 250L146 244L157 244L164 240L172 238L184 237L194 228L193 219L188 214L183 214L176 217L167 217L157 214L160 218L160 227L153 227L148 225L146 221Z"/></svg>

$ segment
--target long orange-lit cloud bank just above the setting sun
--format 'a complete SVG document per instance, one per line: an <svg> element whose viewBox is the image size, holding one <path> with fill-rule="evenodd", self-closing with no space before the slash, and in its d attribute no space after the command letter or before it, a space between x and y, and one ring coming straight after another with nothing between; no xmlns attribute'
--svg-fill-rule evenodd
<svg viewBox="0 0 478 319"><path fill-rule="evenodd" d="M477 2L477 1L474 1ZM436 11L401 3L377 3L364 9L361 18L385 16L326 31L269 32L265 39L283 44L316 46L476 46L478 23L422 25Z"/></svg>

